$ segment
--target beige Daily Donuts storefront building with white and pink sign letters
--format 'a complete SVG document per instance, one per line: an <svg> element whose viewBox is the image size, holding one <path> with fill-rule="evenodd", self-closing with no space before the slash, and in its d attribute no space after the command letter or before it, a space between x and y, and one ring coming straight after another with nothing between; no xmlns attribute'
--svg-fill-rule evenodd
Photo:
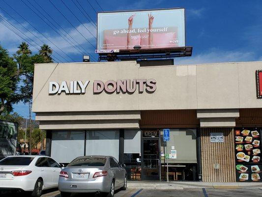
<svg viewBox="0 0 262 197"><path fill-rule="evenodd" d="M260 181L261 68L262 62L40 64L33 111L47 131L47 154L60 163L110 155L126 164L129 180Z"/></svg>

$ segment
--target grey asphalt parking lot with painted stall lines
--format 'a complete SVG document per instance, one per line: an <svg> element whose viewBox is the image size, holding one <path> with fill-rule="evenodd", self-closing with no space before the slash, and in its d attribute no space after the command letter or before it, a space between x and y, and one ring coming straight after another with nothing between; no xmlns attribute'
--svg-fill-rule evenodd
<svg viewBox="0 0 262 197"><path fill-rule="evenodd" d="M4 193L1 197L21 197L21 194ZM184 189L148 190L127 189L116 191L115 197L262 197L262 189ZM45 191L42 197L60 197L59 191ZM87 194L74 194L71 197L87 197ZM88 195L97 197L97 195Z"/></svg>

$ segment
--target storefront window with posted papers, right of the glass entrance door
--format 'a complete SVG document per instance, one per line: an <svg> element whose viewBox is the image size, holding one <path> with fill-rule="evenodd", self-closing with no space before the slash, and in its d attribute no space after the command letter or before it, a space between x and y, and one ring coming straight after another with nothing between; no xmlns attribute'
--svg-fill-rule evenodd
<svg viewBox="0 0 262 197"><path fill-rule="evenodd" d="M196 129L171 129L170 141L163 141L161 130L161 179L197 180ZM167 173L167 159L169 173Z"/></svg>

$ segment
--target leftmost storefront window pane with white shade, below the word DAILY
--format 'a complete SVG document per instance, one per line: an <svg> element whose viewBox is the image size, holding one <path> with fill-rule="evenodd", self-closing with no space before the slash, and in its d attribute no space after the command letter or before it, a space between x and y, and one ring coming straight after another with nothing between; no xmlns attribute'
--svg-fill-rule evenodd
<svg viewBox="0 0 262 197"><path fill-rule="evenodd" d="M70 163L84 155L85 131L53 131L51 157L59 163Z"/></svg>

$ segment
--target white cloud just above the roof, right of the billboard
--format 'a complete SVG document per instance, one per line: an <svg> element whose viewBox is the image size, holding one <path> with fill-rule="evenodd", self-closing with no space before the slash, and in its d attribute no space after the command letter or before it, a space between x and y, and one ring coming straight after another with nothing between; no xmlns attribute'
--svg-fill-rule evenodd
<svg viewBox="0 0 262 197"><path fill-rule="evenodd" d="M255 60L257 59L255 53L253 52L222 51L219 49L212 49L210 50L210 52L205 52L198 55L194 55L193 52L192 57L175 58L175 65L222 63L222 62L247 62L247 61L255 61Z"/></svg>

